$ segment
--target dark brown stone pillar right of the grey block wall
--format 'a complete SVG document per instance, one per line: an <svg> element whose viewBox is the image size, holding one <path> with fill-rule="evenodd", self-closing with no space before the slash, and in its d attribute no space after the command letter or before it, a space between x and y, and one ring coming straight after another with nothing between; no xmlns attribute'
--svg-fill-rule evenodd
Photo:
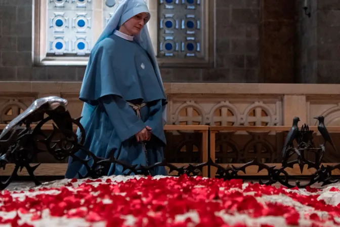
<svg viewBox="0 0 340 227"><path fill-rule="evenodd" d="M261 83L294 83L294 1L261 0Z"/></svg>

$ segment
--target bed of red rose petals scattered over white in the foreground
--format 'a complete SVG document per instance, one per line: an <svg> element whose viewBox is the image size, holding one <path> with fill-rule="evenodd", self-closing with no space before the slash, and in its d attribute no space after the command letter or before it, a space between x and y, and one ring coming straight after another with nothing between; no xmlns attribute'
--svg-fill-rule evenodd
<svg viewBox="0 0 340 227"><path fill-rule="evenodd" d="M1 192L0 226L340 226L339 203L340 184L116 176Z"/></svg>

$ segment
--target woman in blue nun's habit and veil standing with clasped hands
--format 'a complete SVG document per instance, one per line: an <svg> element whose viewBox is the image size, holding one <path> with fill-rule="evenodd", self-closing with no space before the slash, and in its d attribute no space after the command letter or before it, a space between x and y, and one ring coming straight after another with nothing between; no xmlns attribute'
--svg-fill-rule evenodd
<svg viewBox="0 0 340 227"><path fill-rule="evenodd" d="M163 160L167 102L145 26L149 20L144 0L120 1L91 51L80 89L80 123L86 131L84 147L97 157L113 156L137 166ZM75 155L87 159L82 150ZM119 164L106 165L103 171L107 176L129 172ZM65 177L78 178L78 172L87 174L86 167L70 157ZM150 174L166 175L165 167Z"/></svg>

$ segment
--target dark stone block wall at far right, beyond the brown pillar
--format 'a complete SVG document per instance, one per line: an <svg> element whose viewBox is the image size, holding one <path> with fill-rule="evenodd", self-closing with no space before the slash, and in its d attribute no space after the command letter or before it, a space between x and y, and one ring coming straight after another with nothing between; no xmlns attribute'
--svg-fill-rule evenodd
<svg viewBox="0 0 340 227"><path fill-rule="evenodd" d="M297 18L297 67L300 83L340 83L340 1L308 1L305 15L303 4L296 1Z"/></svg>

